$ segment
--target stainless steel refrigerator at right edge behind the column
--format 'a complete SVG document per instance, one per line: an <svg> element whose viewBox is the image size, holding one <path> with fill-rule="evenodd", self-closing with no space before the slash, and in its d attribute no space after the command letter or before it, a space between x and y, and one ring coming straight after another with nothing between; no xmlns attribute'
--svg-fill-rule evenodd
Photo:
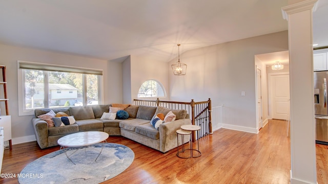
<svg viewBox="0 0 328 184"><path fill-rule="evenodd" d="M328 145L328 72L314 72L314 109L316 142Z"/></svg>

